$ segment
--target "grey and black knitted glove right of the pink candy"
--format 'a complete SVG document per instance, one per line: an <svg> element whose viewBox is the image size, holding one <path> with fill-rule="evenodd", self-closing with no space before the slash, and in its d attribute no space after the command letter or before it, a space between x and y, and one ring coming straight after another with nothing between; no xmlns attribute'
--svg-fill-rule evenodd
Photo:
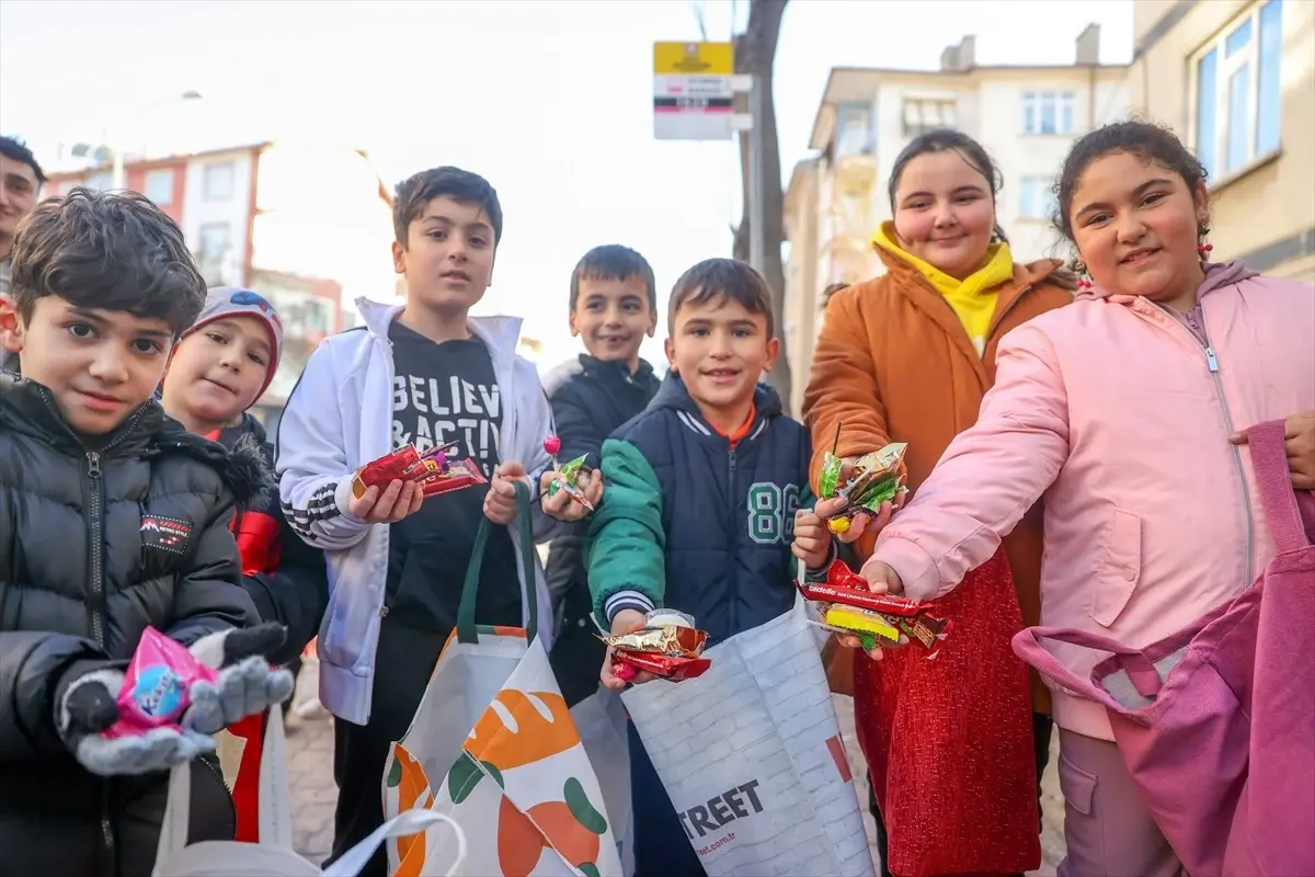
<svg viewBox="0 0 1315 877"><path fill-rule="evenodd" d="M283 625L271 622L199 639L188 651L220 675L214 682L192 685L188 692L192 705L183 714L183 728L217 734L292 697L296 686L292 672L271 667L266 659L283 646L287 635Z"/></svg>

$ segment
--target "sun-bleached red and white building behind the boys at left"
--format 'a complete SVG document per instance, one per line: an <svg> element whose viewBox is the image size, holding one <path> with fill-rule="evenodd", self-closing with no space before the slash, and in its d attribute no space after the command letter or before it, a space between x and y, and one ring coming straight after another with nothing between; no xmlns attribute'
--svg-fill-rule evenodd
<svg viewBox="0 0 1315 877"><path fill-rule="evenodd" d="M252 143L129 160L125 183L181 226L206 283L249 287L279 309L283 362L256 406L267 421L320 341L355 322L355 298L397 295L392 199L362 151ZM110 171L53 174L46 193L75 185L109 188Z"/></svg>

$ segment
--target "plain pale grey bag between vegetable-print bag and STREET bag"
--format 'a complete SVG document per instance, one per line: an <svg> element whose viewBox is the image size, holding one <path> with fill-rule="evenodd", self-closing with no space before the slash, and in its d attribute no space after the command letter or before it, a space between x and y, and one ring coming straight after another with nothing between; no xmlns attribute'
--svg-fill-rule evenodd
<svg viewBox="0 0 1315 877"><path fill-rule="evenodd" d="M630 739L626 735L626 707L615 692L598 692L571 707L585 755L602 788L602 803L611 823L621 857L621 873L635 873L635 820L630 806Z"/></svg>

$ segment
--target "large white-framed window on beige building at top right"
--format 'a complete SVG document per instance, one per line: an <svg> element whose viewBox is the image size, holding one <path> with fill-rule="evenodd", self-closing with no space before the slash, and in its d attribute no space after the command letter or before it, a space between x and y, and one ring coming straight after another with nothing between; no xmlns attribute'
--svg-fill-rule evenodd
<svg viewBox="0 0 1315 877"><path fill-rule="evenodd" d="M1211 178L1278 149L1282 51L1282 0L1269 0L1197 55L1194 139Z"/></svg>

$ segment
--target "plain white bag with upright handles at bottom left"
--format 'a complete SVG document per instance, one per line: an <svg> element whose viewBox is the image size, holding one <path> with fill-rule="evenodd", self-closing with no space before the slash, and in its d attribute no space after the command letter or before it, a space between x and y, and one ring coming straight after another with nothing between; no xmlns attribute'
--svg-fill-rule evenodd
<svg viewBox="0 0 1315 877"><path fill-rule="evenodd" d="M292 799L288 793L287 746L283 711L270 710L260 753L260 843L206 840L188 845L187 823L192 795L192 769L181 764L170 773L168 805L160 831L153 877L356 877L387 838L423 831L447 823L458 855L454 870L466 856L466 835L454 819L441 813L409 810L391 819L325 869L302 859L292 845Z"/></svg>

